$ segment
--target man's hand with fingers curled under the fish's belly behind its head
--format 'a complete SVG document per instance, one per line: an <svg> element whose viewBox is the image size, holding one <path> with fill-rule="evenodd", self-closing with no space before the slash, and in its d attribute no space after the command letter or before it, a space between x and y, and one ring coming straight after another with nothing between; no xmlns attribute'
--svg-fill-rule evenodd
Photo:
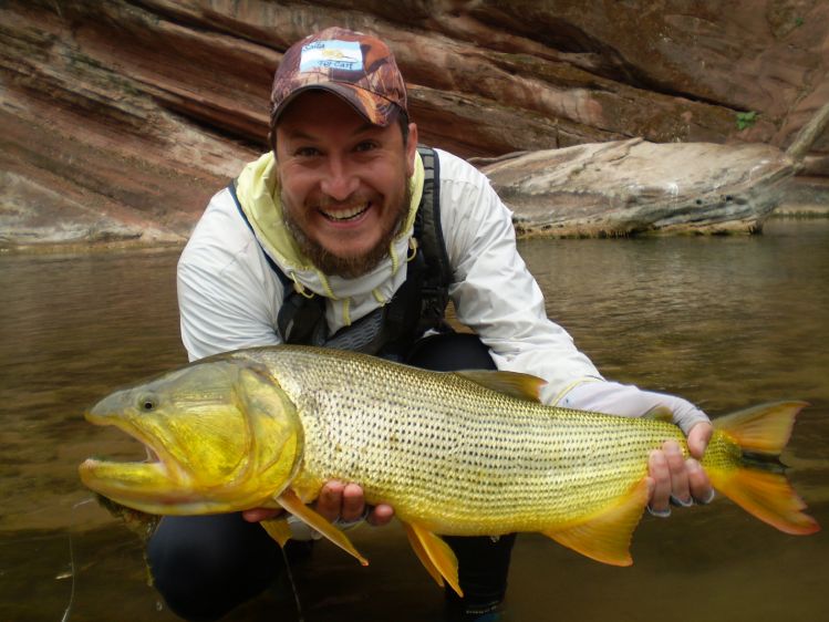
<svg viewBox="0 0 829 622"><path fill-rule="evenodd" d="M315 504L317 511L327 520L342 523L357 522L363 517L374 527L388 523L394 517L394 509L386 504L371 508L365 505L363 489L356 484L329 481L320 490ZM253 508L242 512L245 520L258 522L274 518L282 514L281 509Z"/></svg>

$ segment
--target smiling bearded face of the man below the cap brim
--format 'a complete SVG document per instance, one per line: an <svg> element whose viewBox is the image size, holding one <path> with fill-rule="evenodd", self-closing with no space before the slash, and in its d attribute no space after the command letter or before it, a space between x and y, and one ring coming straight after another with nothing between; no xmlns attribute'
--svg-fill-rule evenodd
<svg viewBox="0 0 829 622"><path fill-rule="evenodd" d="M328 274L374 268L408 212L417 128L403 144L396 123L372 125L343 100L309 91L277 126L276 156L286 224Z"/></svg>

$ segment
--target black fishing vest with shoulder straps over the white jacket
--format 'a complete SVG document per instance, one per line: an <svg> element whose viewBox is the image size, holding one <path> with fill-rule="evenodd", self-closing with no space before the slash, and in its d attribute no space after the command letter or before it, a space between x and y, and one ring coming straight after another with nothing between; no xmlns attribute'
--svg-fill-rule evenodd
<svg viewBox="0 0 829 622"><path fill-rule="evenodd" d="M282 305L276 326L282 342L401 359L426 331L449 330L445 313L452 269L441 228L439 163L432 148L418 145L417 153L424 168L423 196L412 234L417 242L417 251L407 263L406 280L383 307L329 334L324 297L312 294L309 298L308 292L298 292L293 281L262 249L268 265L282 283ZM230 183L228 189L239 214L256 237L239 205L236 180Z"/></svg>

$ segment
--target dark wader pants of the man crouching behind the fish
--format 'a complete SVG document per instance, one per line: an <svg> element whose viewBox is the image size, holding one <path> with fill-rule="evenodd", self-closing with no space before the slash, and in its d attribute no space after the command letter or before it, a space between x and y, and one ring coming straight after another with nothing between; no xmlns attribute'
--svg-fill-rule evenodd
<svg viewBox="0 0 829 622"><path fill-rule="evenodd" d="M418 341L406 362L436 371L495 369L476 336L455 333ZM447 589L447 611L453 619L474 620L495 610L507 589L515 535L446 541L457 554L465 594L462 603ZM169 609L193 621L221 618L269 587L284 566L265 529L239 514L165 517L147 545L147 560Z"/></svg>

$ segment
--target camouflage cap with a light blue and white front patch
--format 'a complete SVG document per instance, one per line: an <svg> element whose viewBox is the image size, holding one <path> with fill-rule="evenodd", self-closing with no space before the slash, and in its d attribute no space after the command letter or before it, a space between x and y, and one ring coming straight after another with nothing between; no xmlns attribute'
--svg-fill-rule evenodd
<svg viewBox="0 0 829 622"><path fill-rule="evenodd" d="M340 95L374 125L385 127L407 113L406 85L392 51L376 37L327 28L291 45L273 77L270 117L300 93L322 89Z"/></svg>

